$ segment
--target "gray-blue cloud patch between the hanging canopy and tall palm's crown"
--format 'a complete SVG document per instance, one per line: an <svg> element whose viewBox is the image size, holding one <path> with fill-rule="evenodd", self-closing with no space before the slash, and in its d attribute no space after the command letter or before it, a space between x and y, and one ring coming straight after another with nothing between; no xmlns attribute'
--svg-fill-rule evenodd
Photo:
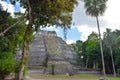
<svg viewBox="0 0 120 80"><path fill-rule="evenodd" d="M101 26L107 25L107 22L103 18L100 17L99 20L102 23ZM84 3L79 1L78 6L75 7L73 12L72 23L74 23L74 26L86 24L89 25L90 27L96 27L96 18L86 15Z"/></svg>

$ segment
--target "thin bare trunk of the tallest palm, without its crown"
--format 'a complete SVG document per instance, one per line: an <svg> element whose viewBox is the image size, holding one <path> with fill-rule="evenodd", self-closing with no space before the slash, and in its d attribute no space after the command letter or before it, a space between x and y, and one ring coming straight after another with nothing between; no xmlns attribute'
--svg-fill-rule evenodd
<svg viewBox="0 0 120 80"><path fill-rule="evenodd" d="M96 16L96 20L97 20L97 27L98 27L98 32L99 32L100 51L101 51L101 57L102 57L103 75L104 75L104 80L106 80L105 62L104 62L103 46L102 46L102 39L101 39L101 33L100 33L100 27L99 27L99 20L98 20L98 16Z"/></svg>

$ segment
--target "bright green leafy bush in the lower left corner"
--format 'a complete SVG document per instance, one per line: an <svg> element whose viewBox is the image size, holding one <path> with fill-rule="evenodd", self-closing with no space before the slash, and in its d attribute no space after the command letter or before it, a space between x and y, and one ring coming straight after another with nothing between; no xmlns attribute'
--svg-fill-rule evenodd
<svg viewBox="0 0 120 80"><path fill-rule="evenodd" d="M12 53L3 52L0 53L0 80L14 71L15 59Z"/></svg>

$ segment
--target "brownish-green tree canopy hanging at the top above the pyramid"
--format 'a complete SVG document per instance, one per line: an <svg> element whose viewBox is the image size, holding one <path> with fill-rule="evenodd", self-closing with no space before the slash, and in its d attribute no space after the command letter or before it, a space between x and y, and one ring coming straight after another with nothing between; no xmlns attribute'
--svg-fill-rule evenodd
<svg viewBox="0 0 120 80"><path fill-rule="evenodd" d="M20 1L22 7L29 12L27 0L11 0L13 4ZM32 24L36 27L60 25L70 28L72 12L77 0L29 0ZM28 17L29 19L29 17Z"/></svg>

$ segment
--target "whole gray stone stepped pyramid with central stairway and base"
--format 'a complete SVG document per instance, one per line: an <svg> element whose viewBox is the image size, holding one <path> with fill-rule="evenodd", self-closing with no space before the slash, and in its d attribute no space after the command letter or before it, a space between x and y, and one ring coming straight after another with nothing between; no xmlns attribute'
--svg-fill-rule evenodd
<svg viewBox="0 0 120 80"><path fill-rule="evenodd" d="M39 30L30 44L28 66L46 74L67 73L74 57L74 50L55 31Z"/></svg>

